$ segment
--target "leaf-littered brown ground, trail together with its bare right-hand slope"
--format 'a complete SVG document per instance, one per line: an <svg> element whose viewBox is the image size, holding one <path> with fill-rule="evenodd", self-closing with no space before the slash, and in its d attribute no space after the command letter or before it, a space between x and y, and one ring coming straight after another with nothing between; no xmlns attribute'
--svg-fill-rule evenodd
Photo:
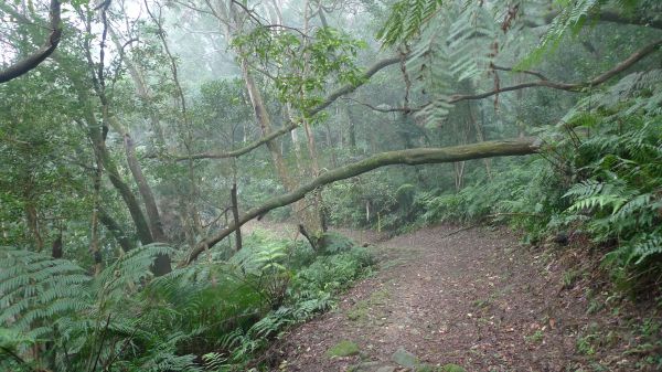
<svg viewBox="0 0 662 372"><path fill-rule="evenodd" d="M596 293L596 259L522 246L508 230L457 231L391 240L344 231L374 244L378 270L335 310L278 340L268 351L274 370L656 370L659 318Z"/></svg>

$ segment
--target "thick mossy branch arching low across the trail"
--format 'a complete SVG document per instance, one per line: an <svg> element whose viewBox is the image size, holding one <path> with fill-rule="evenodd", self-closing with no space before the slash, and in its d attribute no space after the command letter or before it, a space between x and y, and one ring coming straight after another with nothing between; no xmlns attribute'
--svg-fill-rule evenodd
<svg viewBox="0 0 662 372"><path fill-rule="evenodd" d="M201 253L214 246L216 243L221 242L223 238L232 234L232 232L234 232L237 227L242 226L246 222L259 215L263 215L271 210L289 205L298 200L301 200L303 199L303 196L306 196L307 193L313 191L314 189L335 181L352 178L386 166L433 164L504 156L522 156L535 153L541 149L541 147L542 141L540 139L527 137L444 148L418 148L377 153L355 163L332 169L325 173L320 174L318 178L313 179L309 183L306 183L299 187L298 189L292 190L291 192L273 198L265 204L249 210L238 219L238 225L233 222L229 224L229 226L220 231L215 235L209 236L205 240L197 243L197 245L191 251L186 259L183 263L181 263L181 266L185 266L195 261L195 258Z"/></svg>

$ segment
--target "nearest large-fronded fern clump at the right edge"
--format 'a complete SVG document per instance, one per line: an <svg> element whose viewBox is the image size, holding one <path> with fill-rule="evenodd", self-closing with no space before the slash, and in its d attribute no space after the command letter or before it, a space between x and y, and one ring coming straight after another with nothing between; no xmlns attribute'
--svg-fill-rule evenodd
<svg viewBox="0 0 662 372"><path fill-rule="evenodd" d="M659 265L662 253L662 117L617 114L589 123L597 132L577 149L585 179L566 193L566 213L596 241L616 241L605 264L624 278L630 268Z"/></svg>

